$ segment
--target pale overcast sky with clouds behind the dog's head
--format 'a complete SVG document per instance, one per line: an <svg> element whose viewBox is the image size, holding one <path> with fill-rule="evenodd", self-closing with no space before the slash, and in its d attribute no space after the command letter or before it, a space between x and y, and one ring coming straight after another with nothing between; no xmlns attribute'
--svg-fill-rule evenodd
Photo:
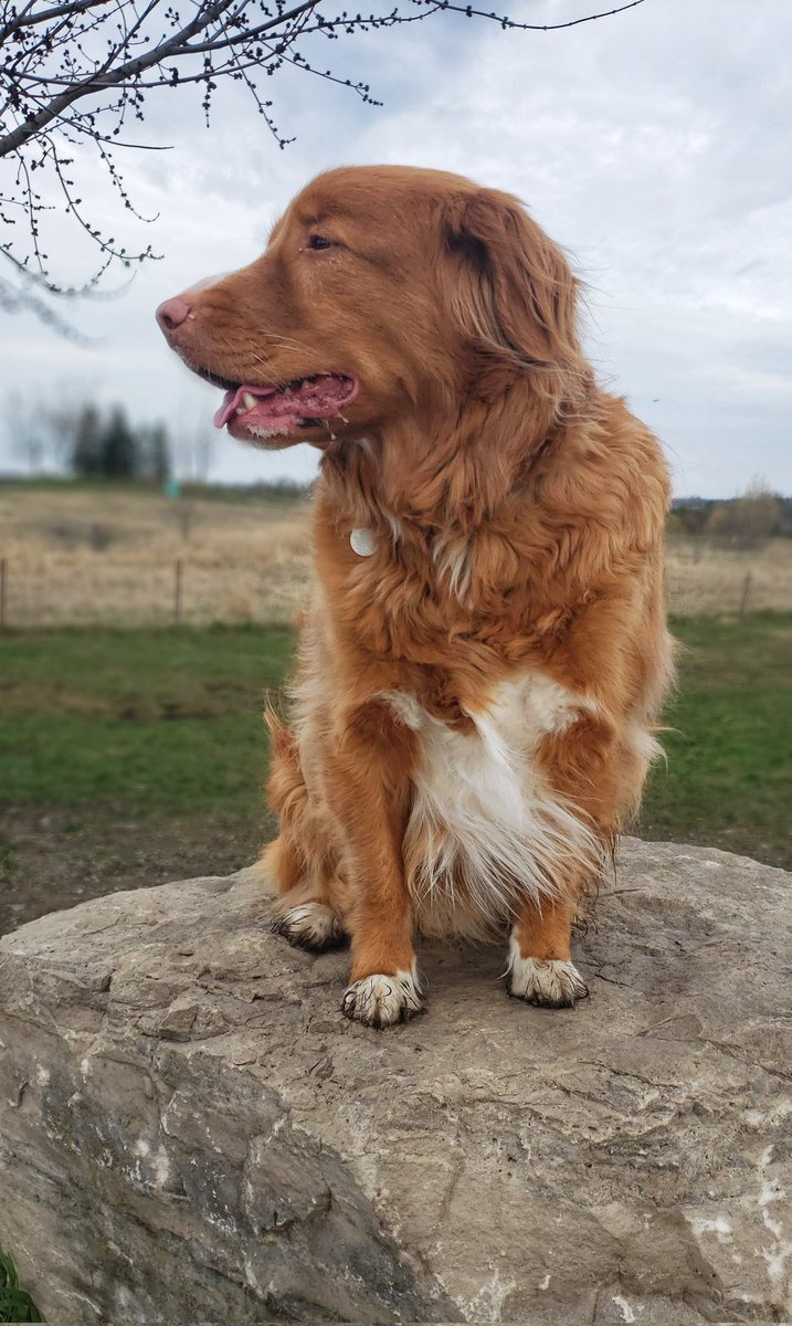
<svg viewBox="0 0 792 1326"><path fill-rule="evenodd" d="M507 12L558 23L608 7L518 0ZM791 49L791 0L645 0L548 33L437 17L330 48L381 107L305 74L273 80L279 125L297 139L285 151L236 86L219 94L209 131L199 94L154 94L144 137L172 151L122 163L138 208L158 220L128 219L93 163L81 187L111 233L163 260L117 298L74 309L94 347L1 316L4 387L32 408L42 392L118 400L185 436L211 431L219 394L167 350L156 304L249 263L319 170L434 166L518 194L571 253L588 284L588 351L664 440L677 495L731 496L756 476L789 493ZM72 224L52 224L56 268L85 274ZM0 419L0 468L13 464ZM314 469L307 446L266 455L217 435L211 477Z"/></svg>

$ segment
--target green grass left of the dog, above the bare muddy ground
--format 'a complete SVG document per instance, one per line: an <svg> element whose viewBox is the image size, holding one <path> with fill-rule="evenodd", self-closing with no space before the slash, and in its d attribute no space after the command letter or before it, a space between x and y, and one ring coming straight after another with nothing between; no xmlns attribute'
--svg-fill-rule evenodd
<svg viewBox="0 0 792 1326"><path fill-rule="evenodd" d="M261 804L287 630L40 631L0 643L0 802L201 815Z"/></svg>

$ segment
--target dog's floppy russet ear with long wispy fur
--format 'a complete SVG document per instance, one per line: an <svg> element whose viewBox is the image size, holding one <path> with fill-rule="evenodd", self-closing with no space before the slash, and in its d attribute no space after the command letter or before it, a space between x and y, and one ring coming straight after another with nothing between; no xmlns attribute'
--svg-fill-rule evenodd
<svg viewBox="0 0 792 1326"><path fill-rule="evenodd" d="M575 399L589 370L577 338L577 282L562 251L518 199L482 188L446 215L454 316L478 350L532 369L556 399Z"/></svg>

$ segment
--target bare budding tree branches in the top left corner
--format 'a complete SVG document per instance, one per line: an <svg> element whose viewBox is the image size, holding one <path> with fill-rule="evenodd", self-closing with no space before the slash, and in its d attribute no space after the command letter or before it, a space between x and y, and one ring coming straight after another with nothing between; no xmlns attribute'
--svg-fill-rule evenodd
<svg viewBox="0 0 792 1326"><path fill-rule="evenodd" d="M338 0L336 0L338 3ZM372 0L383 3L383 0ZM581 0L581 4L584 0ZM0 243L23 285L0 285L4 308L36 308L48 294L73 294L58 281L42 241L46 212L60 192L78 229L97 247L99 265L82 292L97 289L113 264L130 267L155 257L151 245L131 253L95 227L78 196L75 160L93 146L123 210L139 216L115 154L138 145L122 130L143 121L146 97L164 88L199 85L207 122L213 95L228 80L241 82L275 142L289 142L273 117L264 86L285 65L348 88L368 105L379 102L367 82L310 62L315 42L356 33L461 16L510 32L558 32L636 9L626 0L563 23L535 24L453 0L396 0L368 13L327 8L332 0L0 0ZM307 45L306 45L307 44ZM140 217L143 220L143 217ZM56 321L60 314L53 314ZM50 322L53 318L49 320Z"/></svg>

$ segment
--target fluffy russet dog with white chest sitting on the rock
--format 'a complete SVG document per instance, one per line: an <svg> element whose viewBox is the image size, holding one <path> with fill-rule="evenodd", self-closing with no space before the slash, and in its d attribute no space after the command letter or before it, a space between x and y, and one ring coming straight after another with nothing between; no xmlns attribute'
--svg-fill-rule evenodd
<svg viewBox="0 0 792 1326"><path fill-rule="evenodd" d="M262 866L291 944L348 936L342 1008L370 1026L424 1008L416 932L509 935L510 994L587 994L572 924L660 753L669 476L577 302L515 198L372 166L158 309L224 390L217 427L321 452Z"/></svg>

